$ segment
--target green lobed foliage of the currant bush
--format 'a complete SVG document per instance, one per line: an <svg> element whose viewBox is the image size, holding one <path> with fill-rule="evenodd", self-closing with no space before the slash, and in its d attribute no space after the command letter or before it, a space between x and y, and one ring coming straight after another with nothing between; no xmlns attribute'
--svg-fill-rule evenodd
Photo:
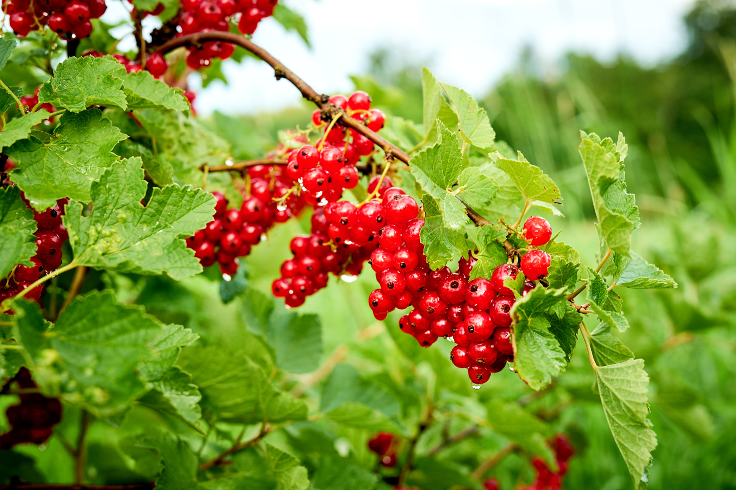
<svg viewBox="0 0 736 490"><path fill-rule="evenodd" d="M159 2L133 3L149 11ZM178 2L161 5L167 20ZM273 15L306 40L295 12L278 5ZM105 42L102 36L85 40L107 52L110 46L95 45ZM0 76L9 60L11 67L28 57L46 60L43 50L21 58L16 44L10 35L0 40ZM38 390L63 403L63 422L54 429L60 434L77 430L69 415L95 419L90 436L107 459L90 450L82 480L155 482L157 489L385 489L399 483L398 472L377 473L365 449L368 436L382 431L405 441L400 484L480 488L484 475L471 474L471 466L490 454L466 461L437 457L447 445L441 430L469 427L485 447L511 442L513 450L562 472L545 442L551 424L521 400L564 384L578 347L593 370L578 392L598 397L634 486L645 487L657 444L647 418L648 375L618 336L629 320L615 288L676 284L631 251L641 220L626 192L622 135L614 143L581 133L578 148L598 218L598 256L583 260L555 236L539 246L550 256L540 286L525 289L521 274L504 283L516 300L513 370L533 391L503 372L493 379L501 378L508 394L486 397L487 389L474 392L450 364L447 345L422 349L398 332L393 314L383 325L356 331L356 339L347 334L364 323L355 318L367 315L364 278L319 293L314 300L324 297L325 307L315 314L284 309L259 291L258 275L243 264L226 280L212 268L203 271L185 239L212 222L210 192L240 206L240 189L250 180L208 175L202 165L232 162L238 138L248 135L216 131L195 117L182 90L148 71L128 71L111 56L67 57L44 79L24 81L38 83L38 107L16 107L14 96L27 90L0 93L0 151L13 162L5 183L13 185L0 189L0 277L34 264L33 210L68 199L62 217L68 245L62 267L41 280L58 274L46 289L54 300L44 300L43 309L24 294L2 303L0 379L30 370ZM495 140L485 109L467 92L437 81L426 68L422 89L421 123L386 123L389 139L404 149L417 145L408 167L394 162L392 179L422 203L420 239L431 268L472 256L470 280L491 278L517 251L530 250L519 226L530 209L562 215L559 187ZM284 134L283 145L291 148L293 138ZM374 157L381 159L381 151ZM366 187L362 179L353 190L357 201ZM255 262L249 270L258 268ZM74 273L68 271L75 268L93 276L96 286L71 292ZM352 292L345 293L348 286ZM349 317L333 314L340 302L350 304ZM595 318L598 325L588 328ZM61 452L60 440L52 437L49 450ZM0 463L0 480L33 480L40 468L49 479L69 478L48 469L53 460L45 454L0 455L17 468L8 473Z"/></svg>

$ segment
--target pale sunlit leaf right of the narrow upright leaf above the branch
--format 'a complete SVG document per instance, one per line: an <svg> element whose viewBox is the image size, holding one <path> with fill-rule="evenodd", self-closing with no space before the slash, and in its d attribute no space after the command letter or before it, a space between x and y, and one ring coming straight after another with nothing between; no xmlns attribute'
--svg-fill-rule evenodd
<svg viewBox="0 0 736 490"><path fill-rule="evenodd" d="M464 142L476 148L491 148L496 134L491 127L486 109L482 109L465 90L439 82L450 107L458 117L458 129Z"/></svg>

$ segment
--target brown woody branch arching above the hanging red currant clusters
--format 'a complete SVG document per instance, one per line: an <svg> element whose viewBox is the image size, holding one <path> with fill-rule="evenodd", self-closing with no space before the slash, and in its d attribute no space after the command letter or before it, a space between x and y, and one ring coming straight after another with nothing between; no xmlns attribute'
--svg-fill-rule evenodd
<svg viewBox="0 0 736 490"><path fill-rule="evenodd" d="M297 87L300 93L302 93L302 97L308 101L314 102L316 107L319 107L322 111L322 115L326 118L333 118L333 116L337 115L338 112L342 111L339 107L335 107L329 103L330 98L328 96L317 93L314 88L297 76L293 71L289 70L289 68L286 68L282 62L273 57L268 51L261 48L261 46L252 43L244 36L234 34L233 32L205 31L175 37L174 39L163 43L158 48L158 52L165 54L176 48L180 48L181 46L198 46L205 41L224 41L225 43L233 43L247 51L250 51L252 54L255 54L256 57L261 58L261 60L268 63L274 69L274 74L277 80L289 80L289 82L291 82L294 87ZM368 127L361 123L361 121L347 115L342 115L337 122L342 126L354 129L359 134L362 134L364 137L367 137L373 143L380 146L386 153L387 158L391 159L392 157L396 157L400 161L408 164L409 156L405 151L401 150L396 145L392 145L392 143L389 143L385 138L378 136L375 131L368 129Z"/></svg>

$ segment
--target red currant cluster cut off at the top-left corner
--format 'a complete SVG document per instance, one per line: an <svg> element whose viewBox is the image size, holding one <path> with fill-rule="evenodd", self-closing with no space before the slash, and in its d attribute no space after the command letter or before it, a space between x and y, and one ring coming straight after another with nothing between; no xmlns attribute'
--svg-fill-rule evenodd
<svg viewBox="0 0 736 490"><path fill-rule="evenodd" d="M2 10L10 14L10 28L18 37L48 25L69 40L91 35L91 19L104 14L107 5L105 0L3 0Z"/></svg>

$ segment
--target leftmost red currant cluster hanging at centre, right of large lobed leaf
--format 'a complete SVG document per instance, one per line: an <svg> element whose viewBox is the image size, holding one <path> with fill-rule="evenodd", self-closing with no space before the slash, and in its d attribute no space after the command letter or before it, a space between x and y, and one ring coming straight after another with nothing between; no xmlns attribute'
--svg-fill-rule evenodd
<svg viewBox="0 0 736 490"><path fill-rule="evenodd" d="M282 166L256 165L248 169L248 175L250 192L245 193L240 208L227 209L227 198L221 192L213 192L214 219L186 239L202 266L217 262L227 275L237 272L238 257L247 256L266 231L297 215L305 205L303 198L289 192L294 181L283 173Z"/></svg>

